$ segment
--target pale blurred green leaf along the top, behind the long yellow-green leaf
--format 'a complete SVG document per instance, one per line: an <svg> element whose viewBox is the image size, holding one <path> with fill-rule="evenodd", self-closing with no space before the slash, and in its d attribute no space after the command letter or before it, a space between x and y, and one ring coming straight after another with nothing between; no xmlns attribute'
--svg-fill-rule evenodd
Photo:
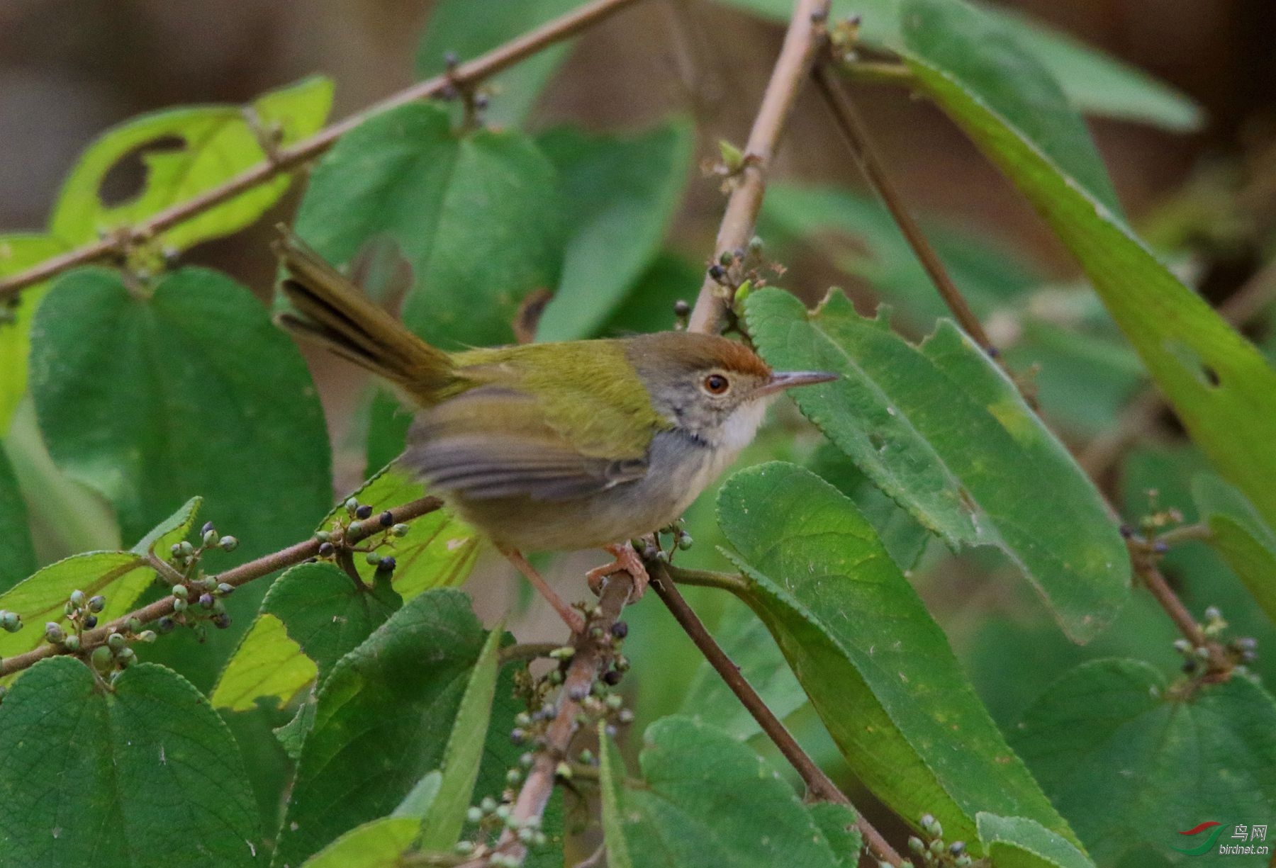
<svg viewBox="0 0 1276 868"><path fill-rule="evenodd" d="M792 15L792 4L787 0L720 1L786 23ZM960 11L981 10L1003 38L1012 40L1044 65L1068 101L1083 112L1151 124L1175 133L1198 129L1203 121L1201 107L1191 97L1060 31L1002 5L944 3ZM864 43L893 51L900 45L902 8L902 0L836 0L832 19L861 15Z"/></svg>

